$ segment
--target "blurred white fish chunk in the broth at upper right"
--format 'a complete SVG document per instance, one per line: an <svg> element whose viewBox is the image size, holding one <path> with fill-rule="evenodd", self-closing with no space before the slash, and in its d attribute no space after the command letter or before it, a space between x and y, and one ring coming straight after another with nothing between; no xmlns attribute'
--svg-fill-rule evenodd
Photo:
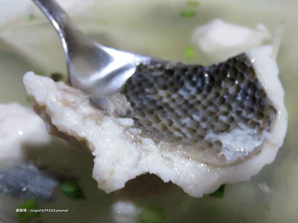
<svg viewBox="0 0 298 223"><path fill-rule="evenodd" d="M198 26L192 34L193 42L215 58L234 56L246 49L260 46L270 38L264 24L259 23L256 29L251 29L220 18Z"/></svg>

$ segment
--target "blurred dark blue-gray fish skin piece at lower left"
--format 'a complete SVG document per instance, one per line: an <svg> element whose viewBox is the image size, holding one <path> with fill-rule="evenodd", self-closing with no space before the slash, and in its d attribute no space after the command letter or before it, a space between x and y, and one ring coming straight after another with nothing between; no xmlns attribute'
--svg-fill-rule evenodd
<svg viewBox="0 0 298 223"><path fill-rule="evenodd" d="M7 166L0 172L0 193L27 199L49 200L58 181L32 164Z"/></svg>

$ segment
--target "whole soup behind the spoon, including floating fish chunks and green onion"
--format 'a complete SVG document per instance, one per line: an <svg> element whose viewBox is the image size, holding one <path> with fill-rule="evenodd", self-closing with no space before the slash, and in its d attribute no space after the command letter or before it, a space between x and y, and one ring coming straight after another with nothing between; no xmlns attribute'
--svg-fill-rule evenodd
<svg viewBox="0 0 298 223"><path fill-rule="evenodd" d="M27 71L68 84L55 29L29 0L0 3L1 221L295 222L297 1L58 1L97 42L171 62L207 66L274 44L283 34L276 57L288 111L283 145L250 180L224 184L203 197L149 173L109 194L99 189L92 178L94 156L49 135L24 88ZM33 185L40 187L32 192L38 196L30 187L15 186L28 173L38 175Z"/></svg>

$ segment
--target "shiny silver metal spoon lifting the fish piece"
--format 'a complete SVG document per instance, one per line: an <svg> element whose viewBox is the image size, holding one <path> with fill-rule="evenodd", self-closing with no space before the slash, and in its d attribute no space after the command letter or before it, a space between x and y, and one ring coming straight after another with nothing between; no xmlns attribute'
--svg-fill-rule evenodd
<svg viewBox="0 0 298 223"><path fill-rule="evenodd" d="M93 95L117 91L139 63L153 59L101 45L83 34L54 0L32 0L49 18L61 38L70 84Z"/></svg>

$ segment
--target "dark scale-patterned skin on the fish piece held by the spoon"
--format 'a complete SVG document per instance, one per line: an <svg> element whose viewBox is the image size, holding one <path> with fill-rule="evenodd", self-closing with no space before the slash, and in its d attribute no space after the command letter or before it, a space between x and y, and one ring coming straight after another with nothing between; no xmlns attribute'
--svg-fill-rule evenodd
<svg viewBox="0 0 298 223"><path fill-rule="evenodd" d="M140 64L121 90L142 136L167 142L204 142L246 125L270 130L276 110L246 54L211 66ZM218 145L220 146L220 145Z"/></svg>

